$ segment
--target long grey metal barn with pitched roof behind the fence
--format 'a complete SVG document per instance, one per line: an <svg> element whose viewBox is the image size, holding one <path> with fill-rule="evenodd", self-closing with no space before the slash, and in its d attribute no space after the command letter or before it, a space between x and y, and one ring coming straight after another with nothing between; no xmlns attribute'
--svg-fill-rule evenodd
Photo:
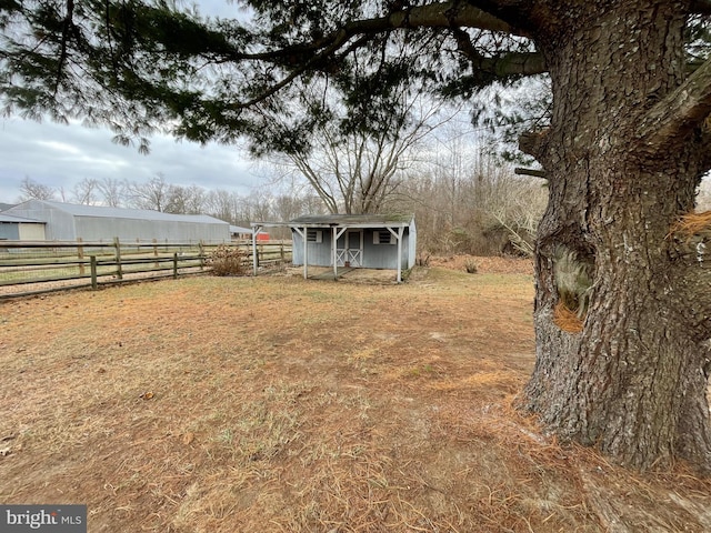
<svg viewBox="0 0 711 533"><path fill-rule="evenodd" d="M3 211L46 223L46 238L57 241L158 240L229 242L230 224L204 214L170 214L142 209L29 200Z"/></svg>

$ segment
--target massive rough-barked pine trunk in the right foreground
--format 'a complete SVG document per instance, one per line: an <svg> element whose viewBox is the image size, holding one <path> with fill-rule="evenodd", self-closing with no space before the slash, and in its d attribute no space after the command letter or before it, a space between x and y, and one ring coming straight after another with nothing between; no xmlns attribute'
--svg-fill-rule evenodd
<svg viewBox="0 0 711 533"><path fill-rule="evenodd" d="M674 253L670 238L693 209L701 135L637 139L645 113L685 79L684 2L574 3L540 14L554 109L550 129L522 142L550 185L527 405L621 464L683 457L711 467L711 309L694 300L708 294L711 270ZM563 305L580 332L557 325Z"/></svg>

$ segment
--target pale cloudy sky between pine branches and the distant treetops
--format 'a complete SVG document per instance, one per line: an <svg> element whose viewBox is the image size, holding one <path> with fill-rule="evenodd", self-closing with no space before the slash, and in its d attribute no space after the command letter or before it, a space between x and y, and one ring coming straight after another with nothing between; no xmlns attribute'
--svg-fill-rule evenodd
<svg viewBox="0 0 711 533"><path fill-rule="evenodd" d="M237 147L203 148L169 137L152 137L150 153L141 155L136 147L114 144L112 137L108 130L80 124L0 119L0 202L14 203L26 177L63 188L68 195L84 178L146 182L161 173L171 184L197 184L241 195L264 183L257 165Z"/></svg>

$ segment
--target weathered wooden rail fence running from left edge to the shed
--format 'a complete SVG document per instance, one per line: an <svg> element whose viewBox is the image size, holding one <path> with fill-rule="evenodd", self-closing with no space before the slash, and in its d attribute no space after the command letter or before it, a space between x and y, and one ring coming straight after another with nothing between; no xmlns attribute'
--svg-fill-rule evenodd
<svg viewBox="0 0 711 533"><path fill-rule="evenodd" d="M204 273L219 245L238 248L253 263L251 242L0 241L0 299L133 279ZM291 261L291 241L257 244L258 264Z"/></svg>

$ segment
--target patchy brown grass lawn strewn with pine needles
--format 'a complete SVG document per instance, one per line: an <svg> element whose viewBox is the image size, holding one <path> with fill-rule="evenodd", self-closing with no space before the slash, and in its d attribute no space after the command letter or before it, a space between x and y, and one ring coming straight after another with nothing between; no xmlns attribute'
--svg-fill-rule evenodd
<svg viewBox="0 0 711 533"><path fill-rule="evenodd" d="M0 501L84 503L90 532L704 531L707 480L630 474L512 408L532 298L437 268L3 302Z"/></svg>

